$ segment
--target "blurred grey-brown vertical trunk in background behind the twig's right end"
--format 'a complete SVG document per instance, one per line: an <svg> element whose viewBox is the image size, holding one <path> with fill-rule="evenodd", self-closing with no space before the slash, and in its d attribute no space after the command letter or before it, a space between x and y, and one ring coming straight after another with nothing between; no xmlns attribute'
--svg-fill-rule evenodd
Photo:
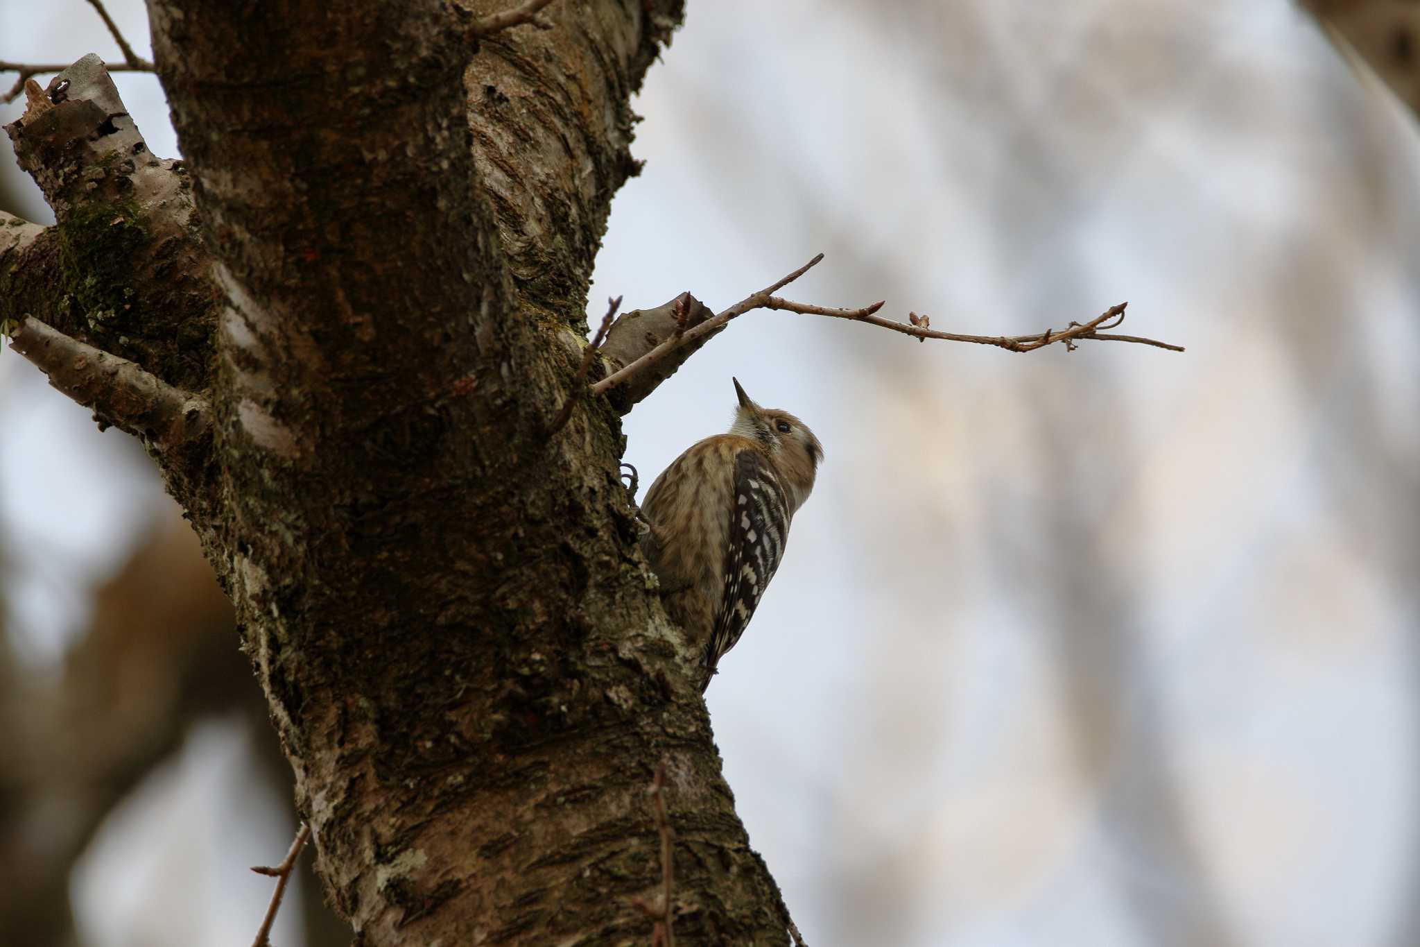
<svg viewBox="0 0 1420 947"><path fill-rule="evenodd" d="M1088 17L1082 27L1086 34L1108 30ZM1181 51L1186 41L1177 43ZM998 45L995 55L1008 60L1011 51ZM1092 72L1085 61L1066 58L1037 78L1041 87L1018 82L997 91L1014 119L1012 160L991 182L1001 212L985 239L1003 267L1018 267L1024 248L1051 247L1055 260L1030 273L1021 287L1030 298L1048 300L1068 295L1074 274L1089 273L1092 264L1099 278L1099 263L1082 247L1081 234L1116 176L1139 160L1126 129L1136 126L1139 111L1162 104L1110 102L1109 111L1096 112L1075 102L1083 126L1072 131L1083 135L1066 149L1056 116L1068 97L1089 88ZM1054 92L1038 95L1039 88ZM1081 173L1081 162L1089 172ZM1048 200L1022 199L1022 177ZM1047 226L1052 233L1042 243ZM1164 693L1152 672L1139 582L1126 572L1137 559L1103 547L1119 481L1129 470L1120 464L1139 456L1127 437L1127 388L1119 375L1059 365L1025 382L1024 406L1017 410L1032 426L1027 443L1035 457L1025 477L1037 508L1024 518L1031 527L1015 530L1007 524L1020 521L1020 514L1000 511L995 555L1003 575L1037 576L1028 620L1048 649L1047 664L1068 717L1062 738L1074 750L1081 782L1095 798L1095 825L1115 856L1105 869L1106 883L1118 890L1137 943L1233 947L1241 941L1189 818L1181 768L1173 765L1177 740L1166 728ZM1137 525L1133 541L1143 548L1149 524Z"/></svg>

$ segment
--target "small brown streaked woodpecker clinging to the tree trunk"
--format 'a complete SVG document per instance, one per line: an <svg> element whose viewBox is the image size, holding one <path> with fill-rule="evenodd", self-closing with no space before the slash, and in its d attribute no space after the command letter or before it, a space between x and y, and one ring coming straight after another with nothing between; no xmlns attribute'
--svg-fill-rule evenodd
<svg viewBox="0 0 1420 947"><path fill-rule="evenodd" d="M727 434L692 444L656 477L642 541L666 611L704 649L704 681L734 647L774 578L790 522L814 488L824 447L788 412L738 396Z"/></svg>

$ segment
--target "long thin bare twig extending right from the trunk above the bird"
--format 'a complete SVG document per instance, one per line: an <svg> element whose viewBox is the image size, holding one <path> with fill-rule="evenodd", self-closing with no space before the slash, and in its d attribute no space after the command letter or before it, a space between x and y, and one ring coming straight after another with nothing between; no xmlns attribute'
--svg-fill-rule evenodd
<svg viewBox="0 0 1420 947"><path fill-rule="evenodd" d="M835 319L849 319L853 322L868 322L869 325L878 325L885 329L892 329L893 332L902 332L903 335L910 335L919 341L926 339L941 339L946 342L976 342L978 345L995 345L998 348L1010 349L1012 352L1031 352L1045 345L1052 345L1055 342L1064 342L1065 348L1069 351L1075 349L1075 342L1081 339L1095 339L1103 342L1137 342L1140 345L1153 345L1156 348L1164 348L1173 352L1181 352L1181 345L1173 345L1169 342L1159 342L1157 339L1146 339L1137 335L1108 335L1099 329L1112 329L1118 327L1125 319L1125 307L1127 302L1120 302L1113 305L1100 315L1095 317L1089 322L1071 322L1069 327L1056 332L1054 329L1045 329L1045 332L1037 335L964 335L960 332L937 332L930 327L932 319L926 315L917 315L916 312L909 314L909 322L896 322L893 319L885 319L875 315L878 310L883 307L882 302L873 302L872 305L865 305L858 310L839 310L825 305L814 305L809 302L795 302L792 300L785 300L782 297L774 295L774 292L801 275L808 273L814 266L816 266L824 258L824 254L818 254L807 264L788 274L778 283L760 290L758 292L751 292L744 297L728 310L716 314L714 318L706 319L700 325L684 331L676 332L669 338L663 339L653 349L630 362L623 365L618 371L612 372L602 381L592 385L592 393L601 395L602 392L621 385L626 379L646 371L656 365L656 362L665 359L667 355L674 352L683 345L696 342L711 332L719 332L730 319L738 315L744 315L751 310L785 310L790 312L802 312L805 315L826 315ZM1109 319L1115 322L1105 325Z"/></svg>

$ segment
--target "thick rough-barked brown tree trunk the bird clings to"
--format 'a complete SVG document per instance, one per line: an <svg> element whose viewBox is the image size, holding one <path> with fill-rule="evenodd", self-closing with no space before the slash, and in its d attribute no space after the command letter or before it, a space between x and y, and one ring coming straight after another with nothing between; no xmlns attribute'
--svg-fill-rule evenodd
<svg viewBox="0 0 1420 947"><path fill-rule="evenodd" d="M153 453L359 943L649 938L660 762L677 937L787 943L636 549L616 410L571 392L545 436L635 172L629 95L680 4L568 0L477 48L436 0L149 11L186 166L105 159L122 104L61 75L68 99L11 126L60 224L0 241L0 318L212 405L196 459ZM77 270L94 298L44 290L114 226L109 268ZM97 315L115 291L122 334Z"/></svg>

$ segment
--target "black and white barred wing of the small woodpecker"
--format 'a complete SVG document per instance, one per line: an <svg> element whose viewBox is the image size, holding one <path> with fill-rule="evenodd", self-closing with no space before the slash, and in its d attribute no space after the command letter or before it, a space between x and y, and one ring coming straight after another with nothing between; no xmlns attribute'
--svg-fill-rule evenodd
<svg viewBox="0 0 1420 947"><path fill-rule="evenodd" d="M724 598L706 649L714 673L720 656L734 647L774 578L790 537L790 501L768 459L741 450L734 460L730 545L724 562ZM709 679L707 679L709 680Z"/></svg>

